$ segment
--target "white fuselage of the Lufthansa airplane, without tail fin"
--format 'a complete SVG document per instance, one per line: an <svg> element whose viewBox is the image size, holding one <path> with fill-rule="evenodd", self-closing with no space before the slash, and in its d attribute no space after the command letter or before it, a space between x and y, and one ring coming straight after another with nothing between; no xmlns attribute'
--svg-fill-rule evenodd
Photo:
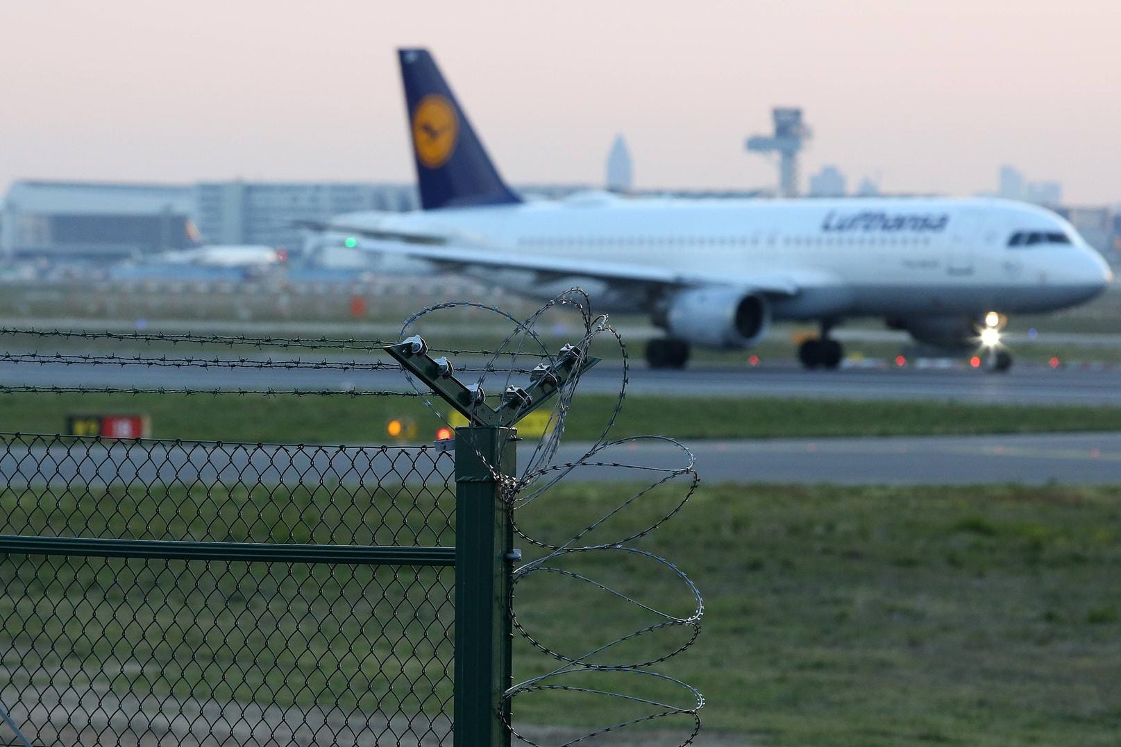
<svg viewBox="0 0 1121 747"><path fill-rule="evenodd" d="M339 216L362 225L374 216ZM382 230L437 234L481 251L658 267L696 286L771 293L775 319L1048 311L1094 297L1112 274L1056 214L991 198L626 199L378 214ZM1019 239L1015 239L1016 236ZM405 259L405 258L402 258ZM408 260L416 261L416 260ZM605 310L650 311L640 284L465 265L536 298L582 284Z"/></svg>

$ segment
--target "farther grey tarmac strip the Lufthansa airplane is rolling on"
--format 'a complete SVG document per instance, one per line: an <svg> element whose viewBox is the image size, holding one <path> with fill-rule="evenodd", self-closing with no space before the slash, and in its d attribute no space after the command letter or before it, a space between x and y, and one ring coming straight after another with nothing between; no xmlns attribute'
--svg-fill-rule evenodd
<svg viewBox="0 0 1121 747"><path fill-rule="evenodd" d="M200 356L211 357L211 356ZM337 368L285 370L270 367L267 356L244 357L262 367L142 367L119 365L61 365L0 361L0 384L8 386L86 386L193 390L306 390L306 391L410 391L398 371L341 371ZM285 354L306 362L323 356ZM334 356L331 361L352 361ZM369 363L374 358L358 358ZM456 362L461 367L482 365L481 360ZM522 365L526 365L525 363ZM531 367L531 366L530 366ZM479 374L464 371L464 382ZM511 382L528 381L526 374ZM622 367L604 362L586 374L582 392L611 394L619 391ZM491 374L485 389L501 391L506 376ZM1051 368L1022 364L1004 374L966 366L911 365L906 367L847 367L837 371L804 371L794 364L757 367L696 366L684 371L654 371L636 364L630 370L629 393L715 398L828 398L843 400L927 400L989 404L1083 404L1121 407L1121 368L1097 365Z"/></svg>

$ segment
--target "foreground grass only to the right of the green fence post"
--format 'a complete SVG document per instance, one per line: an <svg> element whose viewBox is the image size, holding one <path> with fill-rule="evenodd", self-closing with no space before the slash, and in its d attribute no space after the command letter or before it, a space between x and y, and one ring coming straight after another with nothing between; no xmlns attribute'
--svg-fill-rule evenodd
<svg viewBox="0 0 1121 747"><path fill-rule="evenodd" d="M553 505L612 501L576 486ZM639 547L705 595L697 644L664 667L704 692L706 729L807 747L1118 744L1121 488L710 486ZM628 590L654 578L599 570ZM552 591L519 585L518 605L558 647L611 625ZM568 706L568 721L610 718ZM521 717L558 717L535 707Z"/></svg>

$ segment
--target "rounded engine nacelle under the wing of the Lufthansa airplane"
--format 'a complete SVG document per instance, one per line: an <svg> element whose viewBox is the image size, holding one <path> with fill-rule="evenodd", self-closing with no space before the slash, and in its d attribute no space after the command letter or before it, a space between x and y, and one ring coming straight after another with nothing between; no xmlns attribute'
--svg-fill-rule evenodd
<svg viewBox="0 0 1121 747"><path fill-rule="evenodd" d="M731 288L683 290L670 300L665 316L671 337L702 347L750 347L769 326L767 298Z"/></svg>

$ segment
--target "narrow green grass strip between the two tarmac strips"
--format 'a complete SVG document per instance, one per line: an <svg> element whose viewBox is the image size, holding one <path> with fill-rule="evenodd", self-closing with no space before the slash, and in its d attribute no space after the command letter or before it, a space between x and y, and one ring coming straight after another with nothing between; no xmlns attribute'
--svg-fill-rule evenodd
<svg viewBox="0 0 1121 747"><path fill-rule="evenodd" d="M596 438L614 399L580 395L565 438ZM0 431L56 433L71 413L148 413L152 436L198 440L381 443L391 419L416 424L430 441L442 423L416 398L212 394L4 394ZM1106 431L1121 408L974 405L945 402L855 402L798 399L629 396L612 435L677 438L780 438Z"/></svg>

